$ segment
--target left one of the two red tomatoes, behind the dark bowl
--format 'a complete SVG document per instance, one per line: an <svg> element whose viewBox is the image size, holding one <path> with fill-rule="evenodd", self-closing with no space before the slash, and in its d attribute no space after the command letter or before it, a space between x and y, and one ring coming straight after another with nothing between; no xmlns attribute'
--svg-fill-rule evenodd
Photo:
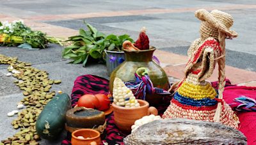
<svg viewBox="0 0 256 145"><path fill-rule="evenodd" d="M77 102L78 107L98 108L100 107L99 100L92 94L85 94L79 98Z"/></svg>

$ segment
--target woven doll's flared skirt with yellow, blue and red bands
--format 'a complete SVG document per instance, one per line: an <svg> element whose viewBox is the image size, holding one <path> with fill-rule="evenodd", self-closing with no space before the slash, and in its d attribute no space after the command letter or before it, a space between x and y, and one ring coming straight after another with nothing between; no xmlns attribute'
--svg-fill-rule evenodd
<svg viewBox="0 0 256 145"><path fill-rule="evenodd" d="M218 94L209 83L202 86L185 81L173 96L162 118L187 118L213 122L218 103L216 98ZM239 120L225 102L223 102L220 122L238 128Z"/></svg>

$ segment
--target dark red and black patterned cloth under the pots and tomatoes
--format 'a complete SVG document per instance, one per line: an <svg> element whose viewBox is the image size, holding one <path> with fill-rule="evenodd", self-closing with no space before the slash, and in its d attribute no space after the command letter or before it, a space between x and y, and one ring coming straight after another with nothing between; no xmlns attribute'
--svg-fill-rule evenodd
<svg viewBox="0 0 256 145"><path fill-rule="evenodd" d="M72 107L76 106L78 99L84 95L85 93L88 94L96 94L96 93L109 93L109 81L108 79L101 78L99 76L94 76L90 74L86 74L83 76L79 76L74 81L74 87L71 94L72 99ZM160 104L157 107L159 114L163 114L166 110L166 107L170 104L170 99L165 97L163 100L163 104ZM123 134L118 130L118 127L115 125L115 120L113 113L106 116L107 127L102 135L102 143L108 142L108 144L124 144L123 139L126 134ZM71 145L71 134L70 132L67 133L67 137L65 140L61 142L63 145Z"/></svg>

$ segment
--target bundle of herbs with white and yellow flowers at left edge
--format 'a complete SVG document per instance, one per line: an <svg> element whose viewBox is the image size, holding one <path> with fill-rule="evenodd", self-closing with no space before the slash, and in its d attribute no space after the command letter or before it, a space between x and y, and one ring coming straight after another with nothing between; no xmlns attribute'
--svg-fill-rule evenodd
<svg viewBox="0 0 256 145"><path fill-rule="evenodd" d="M58 43L61 40L46 36L44 32L32 31L22 20L0 22L0 45L17 46L20 48L46 48L47 43Z"/></svg>

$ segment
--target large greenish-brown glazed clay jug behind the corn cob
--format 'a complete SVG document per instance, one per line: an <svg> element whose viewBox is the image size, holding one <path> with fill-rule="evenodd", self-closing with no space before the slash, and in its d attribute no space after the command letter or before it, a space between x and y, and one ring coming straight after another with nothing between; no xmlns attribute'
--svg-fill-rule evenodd
<svg viewBox="0 0 256 145"><path fill-rule="evenodd" d="M149 50L140 51L127 51L124 49L125 61L116 67L111 73L109 81L109 91L113 92L113 81L115 77L122 79L122 81L135 81L134 73L140 67L146 67L148 69L148 76L151 79L153 85L157 88L163 88L168 90L169 81L168 76L164 70L152 60L152 56L156 48L151 47ZM157 106L163 99L163 95L147 94L146 100L150 106Z"/></svg>

